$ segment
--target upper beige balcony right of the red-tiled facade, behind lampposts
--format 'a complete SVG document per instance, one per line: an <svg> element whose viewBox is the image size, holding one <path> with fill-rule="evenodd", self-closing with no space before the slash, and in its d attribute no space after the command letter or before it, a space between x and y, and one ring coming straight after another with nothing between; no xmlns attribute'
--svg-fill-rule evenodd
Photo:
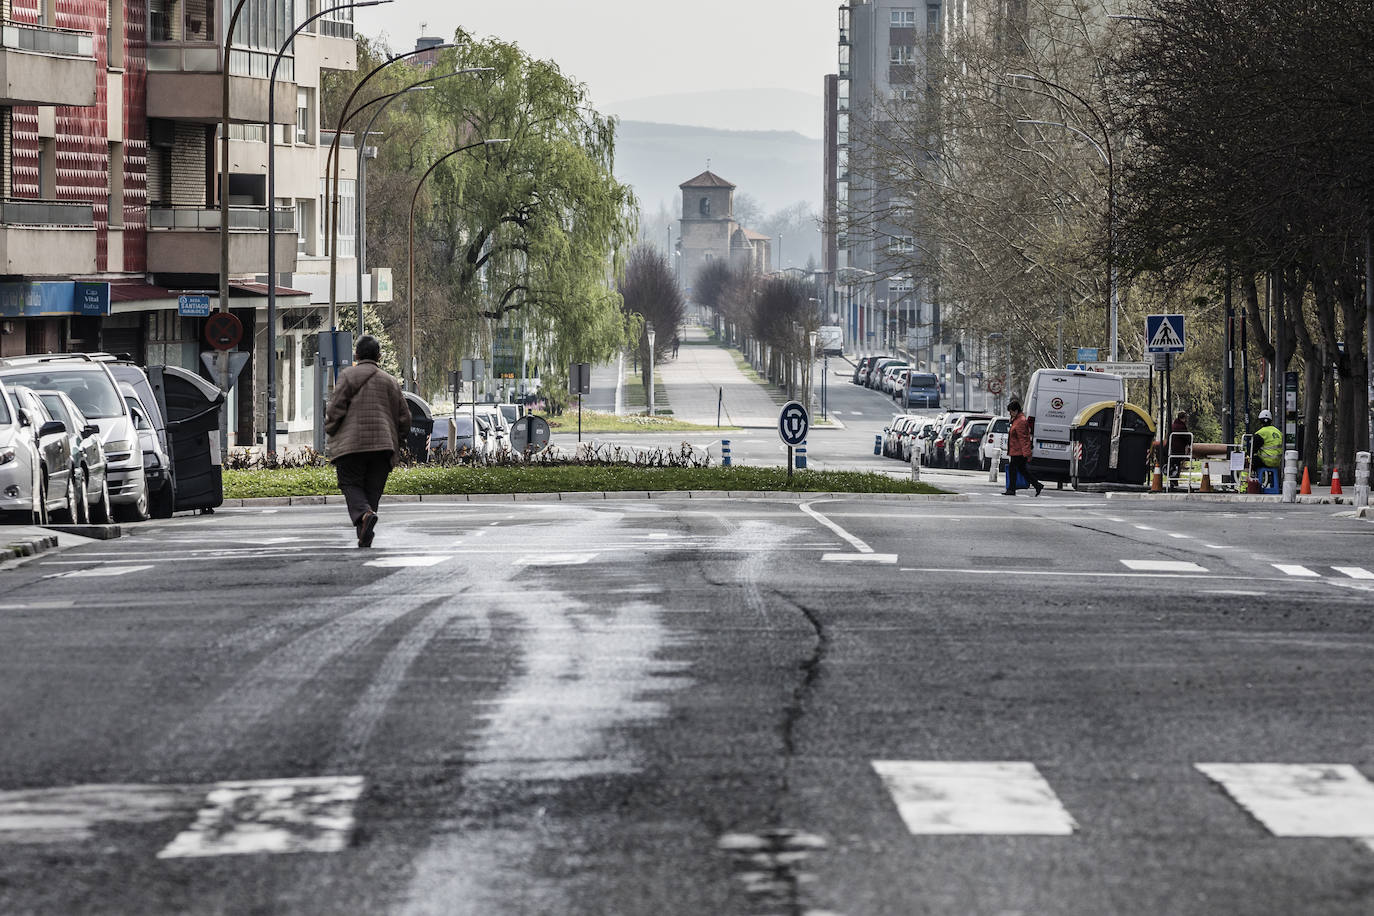
<svg viewBox="0 0 1374 916"><path fill-rule="evenodd" d="M148 44L148 117L216 124L224 110L223 49L213 41ZM267 124L267 76L275 55L229 51L229 121ZM295 124L295 62L283 58L276 71L276 124Z"/></svg>

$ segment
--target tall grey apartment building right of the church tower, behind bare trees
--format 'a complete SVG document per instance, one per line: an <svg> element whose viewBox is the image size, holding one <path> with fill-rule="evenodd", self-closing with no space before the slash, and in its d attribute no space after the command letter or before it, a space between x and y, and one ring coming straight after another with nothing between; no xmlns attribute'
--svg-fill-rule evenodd
<svg viewBox="0 0 1374 916"><path fill-rule="evenodd" d="M929 347L938 297L921 239L874 155L875 125L914 117L938 48L938 0L849 0L838 8L838 69L826 77L823 276L829 312L860 352ZM860 163L863 163L860 166Z"/></svg>

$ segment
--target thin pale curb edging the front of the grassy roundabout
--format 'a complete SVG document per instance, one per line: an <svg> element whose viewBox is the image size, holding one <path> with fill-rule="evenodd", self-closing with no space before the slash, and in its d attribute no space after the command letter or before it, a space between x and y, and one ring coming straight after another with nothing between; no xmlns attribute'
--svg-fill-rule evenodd
<svg viewBox="0 0 1374 916"><path fill-rule="evenodd" d="M802 503L808 500L896 500L923 503L944 500L967 503L967 493L822 493L822 492L778 492L778 490L577 490L565 493L429 493L425 496L387 496L389 503L585 503L602 500L774 500ZM293 505L344 505L342 496L264 496L242 500L224 500L225 508L278 508Z"/></svg>

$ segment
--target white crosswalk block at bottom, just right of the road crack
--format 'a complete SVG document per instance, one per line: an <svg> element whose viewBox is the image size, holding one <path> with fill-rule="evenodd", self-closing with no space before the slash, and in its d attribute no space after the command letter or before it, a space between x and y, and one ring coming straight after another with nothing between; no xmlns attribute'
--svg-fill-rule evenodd
<svg viewBox="0 0 1374 916"><path fill-rule="evenodd" d="M912 834L1068 836L1076 824L1035 764L872 761Z"/></svg>

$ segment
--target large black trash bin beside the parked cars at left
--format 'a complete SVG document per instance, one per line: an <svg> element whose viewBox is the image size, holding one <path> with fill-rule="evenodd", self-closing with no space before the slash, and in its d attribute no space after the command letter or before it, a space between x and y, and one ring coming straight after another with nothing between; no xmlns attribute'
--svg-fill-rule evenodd
<svg viewBox="0 0 1374 916"><path fill-rule="evenodd" d="M190 369L148 367L148 383L162 408L172 461L173 509L213 509L224 503L220 407L224 393Z"/></svg>

